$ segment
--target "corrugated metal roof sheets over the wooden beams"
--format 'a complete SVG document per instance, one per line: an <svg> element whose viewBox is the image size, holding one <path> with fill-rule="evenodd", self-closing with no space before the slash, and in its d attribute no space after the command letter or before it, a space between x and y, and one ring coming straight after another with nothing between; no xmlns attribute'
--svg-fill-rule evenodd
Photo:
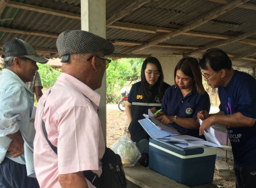
<svg viewBox="0 0 256 188"><path fill-rule="evenodd" d="M80 0L26 0L26 1L10 1L10 3L20 2L22 5L33 5L40 8L46 8L53 11L63 11L68 14L81 14ZM141 1L143 3L143 1ZM233 2L233 1L231 1ZM106 0L106 21L113 16L119 15L121 11L125 11L129 6L139 3L133 0ZM245 5L256 6L256 0L251 0ZM129 50L133 49L133 54L183 54L191 52L192 56L201 55L201 51L193 51L187 48L174 48L174 45L179 46L196 46L197 48L207 48L214 42L225 42L230 37L240 37L243 34L256 30L256 8L251 7L236 7L226 13L216 16L206 23L194 26L195 21L200 17L205 16L212 10L220 9L224 4L206 0L165 0L165 1L150 1L144 3L140 7L133 8L133 11L123 13L114 22L123 23L126 28L106 28L106 38L112 42L117 40L123 41L123 44L115 44L115 54L129 55ZM114 23L111 23L110 26ZM137 25L131 26L130 23ZM171 29L173 32L183 30L187 26L191 26L186 32L197 32L197 35L184 35L182 32L175 34L174 37L168 37L162 30L156 33L135 31L136 28L145 28L146 26L161 27L165 30ZM5 7L0 17L0 46L18 37L26 40L45 56L56 56L56 37L65 30L79 30L81 28L80 19L73 19L50 13L40 13L24 8ZM11 32L3 32L3 28L12 29ZM150 28L148 30L153 30ZM147 29L146 29L147 30ZM17 31L17 32L15 32ZM28 34L30 32L30 34ZM33 34L32 34L33 33ZM44 34L44 36L40 34ZM222 39L214 38L214 35L221 35ZM210 35L206 36L206 35ZM224 38L226 37L226 39ZM159 47L151 45L159 38L164 38L156 44L170 45L171 48ZM247 36L249 41L228 42L220 46L226 52L236 55L251 58L247 62L251 66L256 66L256 58L254 55L256 44L256 34ZM243 39L241 39L243 40ZM128 42L127 46L123 46ZM139 46L132 46L132 42L143 42L150 44L137 50ZM218 47L218 46L217 46ZM1 52L1 51L0 51ZM255 60L253 59L255 58ZM245 64L245 63L244 63Z"/></svg>

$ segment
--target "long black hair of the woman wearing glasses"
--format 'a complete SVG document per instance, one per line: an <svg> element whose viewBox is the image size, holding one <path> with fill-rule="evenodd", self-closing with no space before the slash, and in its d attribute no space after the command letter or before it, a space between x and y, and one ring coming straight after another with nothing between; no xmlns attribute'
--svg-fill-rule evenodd
<svg viewBox="0 0 256 188"><path fill-rule="evenodd" d="M161 98L164 93L162 92L162 85L164 82L164 74L162 73L162 66L159 62L159 60L155 57L148 57L143 61L143 64L141 66L141 91L142 91L142 95L146 97L146 99L150 99L152 93L150 91L150 84L148 83L148 81L146 80L146 76L145 76L145 70L147 67L148 63L152 63L155 64L158 68L158 71L160 73L159 77L158 77L158 81L155 83L157 90L158 90L158 95Z"/></svg>

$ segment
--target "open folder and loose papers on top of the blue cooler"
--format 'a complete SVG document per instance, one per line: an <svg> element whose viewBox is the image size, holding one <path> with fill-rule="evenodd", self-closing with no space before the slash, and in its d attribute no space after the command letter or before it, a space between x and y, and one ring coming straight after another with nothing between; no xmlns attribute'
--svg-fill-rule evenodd
<svg viewBox="0 0 256 188"><path fill-rule="evenodd" d="M167 126L156 120L150 109L148 109L148 115L143 115L145 118L138 122L153 139L172 142L172 144L180 146L181 148L222 147L215 137L213 128L208 129L208 132L204 133L207 140L205 141L201 138L179 134L171 125Z"/></svg>

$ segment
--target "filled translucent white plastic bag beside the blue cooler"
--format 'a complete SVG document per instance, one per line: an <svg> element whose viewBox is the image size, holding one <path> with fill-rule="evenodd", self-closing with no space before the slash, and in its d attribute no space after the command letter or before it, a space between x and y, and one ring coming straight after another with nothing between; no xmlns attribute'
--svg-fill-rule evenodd
<svg viewBox="0 0 256 188"><path fill-rule="evenodd" d="M119 138L110 148L121 156L123 167L133 167L141 158L139 149L127 134Z"/></svg>

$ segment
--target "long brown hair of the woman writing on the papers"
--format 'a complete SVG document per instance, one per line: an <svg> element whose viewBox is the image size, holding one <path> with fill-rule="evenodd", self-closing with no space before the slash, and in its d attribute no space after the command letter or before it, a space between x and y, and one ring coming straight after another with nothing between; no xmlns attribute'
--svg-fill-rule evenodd
<svg viewBox="0 0 256 188"><path fill-rule="evenodd" d="M205 89L202 83L201 69L196 58L185 57L179 60L174 69L174 81L178 70L181 70L185 75L193 79L193 89L195 89L197 93L200 95L205 93ZM177 86L176 81L175 85Z"/></svg>

